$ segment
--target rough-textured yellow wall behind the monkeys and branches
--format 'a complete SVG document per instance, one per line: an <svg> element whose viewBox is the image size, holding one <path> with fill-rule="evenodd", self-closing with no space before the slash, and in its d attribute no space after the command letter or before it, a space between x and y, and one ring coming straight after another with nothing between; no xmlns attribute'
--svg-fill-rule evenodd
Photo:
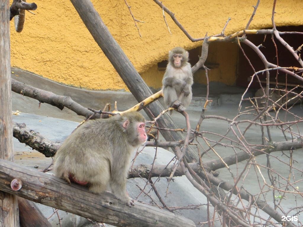
<svg viewBox="0 0 303 227"><path fill-rule="evenodd" d="M86 29L72 3L68 0L45 2L34 0L38 5L36 15L26 12L25 25L21 33L14 29L11 21L11 64L51 80L89 89L127 90L119 75L102 53ZM28 1L31 2L31 1ZM137 71L151 87L161 87L164 71L157 70L157 62L167 58L168 51L175 46L192 49L201 42L192 43L166 14L172 36L168 33L161 8L155 2L127 0L138 23L142 38L128 11L120 0L93 0L95 9L107 25L122 50ZM225 34L242 30L253 11L257 0L164 0L163 4L175 13L176 18L192 37L204 37L220 33L228 17ZM250 29L271 26L272 0L262 0ZM301 0L277 1L275 21L281 25L303 25ZM227 45L232 55L236 49ZM217 48L220 51L221 44ZM211 71L211 78L221 82L235 80L235 75L224 74L224 57L220 68ZM232 63L233 64L233 63ZM229 66L230 67L230 66ZM235 71L231 67L232 71ZM195 78L203 82L201 78ZM226 82L231 83L231 82Z"/></svg>

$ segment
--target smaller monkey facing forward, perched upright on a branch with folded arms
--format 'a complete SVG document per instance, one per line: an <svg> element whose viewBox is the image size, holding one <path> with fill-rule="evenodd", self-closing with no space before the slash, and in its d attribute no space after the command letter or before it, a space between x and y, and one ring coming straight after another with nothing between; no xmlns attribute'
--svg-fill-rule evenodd
<svg viewBox="0 0 303 227"><path fill-rule="evenodd" d="M189 106L192 98L191 86L194 83L188 51L175 47L168 53L168 64L163 76L164 103L183 111ZM170 111L172 113L172 111Z"/></svg>

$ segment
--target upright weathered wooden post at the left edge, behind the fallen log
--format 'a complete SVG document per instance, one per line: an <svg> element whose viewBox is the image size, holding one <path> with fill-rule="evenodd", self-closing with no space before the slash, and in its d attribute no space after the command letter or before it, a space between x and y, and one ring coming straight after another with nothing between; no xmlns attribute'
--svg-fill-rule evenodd
<svg viewBox="0 0 303 227"><path fill-rule="evenodd" d="M8 0L0 0L0 158L13 162ZM19 226L17 197L0 191L0 226Z"/></svg>

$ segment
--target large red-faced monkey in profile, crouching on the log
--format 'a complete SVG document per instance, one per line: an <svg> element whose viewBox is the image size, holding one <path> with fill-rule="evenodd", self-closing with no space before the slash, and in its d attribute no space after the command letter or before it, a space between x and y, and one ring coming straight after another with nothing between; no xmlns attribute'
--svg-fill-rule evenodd
<svg viewBox="0 0 303 227"><path fill-rule="evenodd" d="M134 206L126 192L126 179L134 150L147 139L145 118L128 112L89 120L72 132L58 149L54 173L69 184L87 185L100 194L108 186L117 199Z"/></svg>

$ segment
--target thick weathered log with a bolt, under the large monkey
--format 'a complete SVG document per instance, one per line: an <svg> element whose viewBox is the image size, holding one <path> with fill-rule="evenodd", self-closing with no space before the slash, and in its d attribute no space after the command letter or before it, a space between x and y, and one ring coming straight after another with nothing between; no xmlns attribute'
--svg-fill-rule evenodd
<svg viewBox="0 0 303 227"><path fill-rule="evenodd" d="M21 187L11 187L16 178L21 180ZM63 179L6 160L0 160L0 190L117 227L195 226L193 221L167 210L136 201L134 207L128 207L109 192L95 195L84 186L69 186Z"/></svg>

